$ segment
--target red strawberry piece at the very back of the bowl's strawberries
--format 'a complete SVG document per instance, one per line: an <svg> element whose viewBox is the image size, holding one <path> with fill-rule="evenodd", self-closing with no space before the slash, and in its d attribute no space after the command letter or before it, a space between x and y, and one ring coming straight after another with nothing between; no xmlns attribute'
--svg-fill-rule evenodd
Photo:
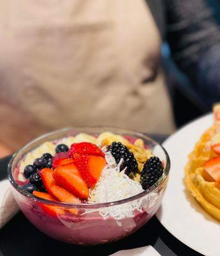
<svg viewBox="0 0 220 256"><path fill-rule="evenodd" d="M69 152L71 157L75 154L94 155L105 157L105 154L101 148L89 142L73 143Z"/></svg>

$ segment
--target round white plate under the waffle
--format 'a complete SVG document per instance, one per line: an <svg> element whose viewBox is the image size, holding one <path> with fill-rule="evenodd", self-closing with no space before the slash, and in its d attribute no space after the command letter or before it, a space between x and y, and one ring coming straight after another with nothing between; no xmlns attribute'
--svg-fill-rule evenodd
<svg viewBox="0 0 220 256"><path fill-rule="evenodd" d="M170 136L163 146L171 161L170 180L157 217L182 243L204 255L220 255L220 225L196 202L184 186L184 167L196 141L212 125L206 115Z"/></svg>

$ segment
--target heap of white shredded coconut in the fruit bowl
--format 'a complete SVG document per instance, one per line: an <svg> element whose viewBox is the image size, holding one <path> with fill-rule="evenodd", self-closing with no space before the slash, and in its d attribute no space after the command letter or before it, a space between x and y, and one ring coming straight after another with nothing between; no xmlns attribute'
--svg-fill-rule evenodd
<svg viewBox="0 0 220 256"><path fill-rule="evenodd" d="M126 168L120 172L119 164L115 163L115 159L110 152L105 152L106 166L96 183L94 189L90 191L89 204L114 202L137 195L143 191L142 186L135 180L129 179L124 173ZM135 200L121 205L113 205L99 209L99 214L104 219L113 217L115 220L121 220L126 217L133 217L134 211L141 210L142 200ZM97 210L87 210L85 213Z"/></svg>

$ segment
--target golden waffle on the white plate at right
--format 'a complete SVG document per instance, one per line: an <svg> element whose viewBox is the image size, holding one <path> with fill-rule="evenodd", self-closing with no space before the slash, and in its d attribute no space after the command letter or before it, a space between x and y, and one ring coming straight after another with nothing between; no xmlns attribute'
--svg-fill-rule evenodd
<svg viewBox="0 0 220 256"><path fill-rule="evenodd" d="M207 163L217 154L212 150L214 138L220 138L220 122L218 118L219 105L214 107L215 123L201 136L193 152L189 154L185 168L185 184L191 195L202 205L203 209L220 221L220 188L217 188L213 179L204 170ZM217 141L220 143L220 141ZM220 170L219 170L220 172Z"/></svg>

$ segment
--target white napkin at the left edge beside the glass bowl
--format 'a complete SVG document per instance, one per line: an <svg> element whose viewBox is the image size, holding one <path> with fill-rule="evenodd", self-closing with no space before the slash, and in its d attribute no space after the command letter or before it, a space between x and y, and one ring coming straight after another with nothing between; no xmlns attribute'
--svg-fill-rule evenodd
<svg viewBox="0 0 220 256"><path fill-rule="evenodd" d="M0 181L0 228L19 211L9 180Z"/></svg>

